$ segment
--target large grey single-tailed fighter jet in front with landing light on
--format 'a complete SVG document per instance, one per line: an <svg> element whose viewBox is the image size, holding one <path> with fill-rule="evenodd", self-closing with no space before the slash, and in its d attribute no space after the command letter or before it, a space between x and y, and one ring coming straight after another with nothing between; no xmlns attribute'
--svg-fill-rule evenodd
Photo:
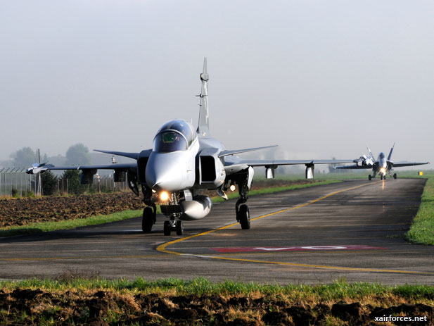
<svg viewBox="0 0 434 326"><path fill-rule="evenodd" d="M257 151L273 146L250 149L227 150L221 142L212 138L209 127L207 61L204 59L200 74L202 87L198 97L199 121L195 129L186 120L170 120L160 127L153 139L153 148L136 153L122 151L95 151L134 158L135 163L108 165L79 165L55 167L35 164L27 169L33 174L45 170L81 170L80 182L90 184L98 169L114 170L115 182L127 180L132 192L143 194L142 230L151 232L156 221L156 205L168 218L164 234L176 231L183 234L183 220L198 220L210 213L212 201L201 194L204 189L213 189L227 199L226 191L238 186L240 198L235 204L236 220L242 229L250 229L250 212L245 202L252 186L253 167L264 167L267 178L274 177L279 165L304 164L306 178L314 176L315 164L351 163L353 160L248 160L235 156L238 153Z"/></svg>

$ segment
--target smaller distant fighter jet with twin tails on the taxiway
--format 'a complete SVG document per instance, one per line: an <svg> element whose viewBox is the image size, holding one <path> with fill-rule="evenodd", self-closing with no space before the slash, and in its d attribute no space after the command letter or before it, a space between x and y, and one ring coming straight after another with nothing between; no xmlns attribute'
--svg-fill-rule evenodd
<svg viewBox="0 0 434 326"><path fill-rule="evenodd" d="M393 173L393 168L429 164L429 162L390 161L390 158L392 158L392 151L394 148L395 148L395 144L393 144L392 148L390 149L387 160L383 152L381 152L378 155L378 158L375 160L374 155L371 152L371 149L369 149L369 147L366 146L366 149L368 149L369 154L368 155L364 154L363 156L360 156L360 158L355 159L354 160L354 162L356 163L355 165L336 166L335 168L336 169L372 169L373 175L368 176L369 180L372 180L373 177L376 177L377 173L380 175L381 180L383 179L385 180L386 174L390 175L390 177L393 177L393 179L397 178L396 173Z"/></svg>

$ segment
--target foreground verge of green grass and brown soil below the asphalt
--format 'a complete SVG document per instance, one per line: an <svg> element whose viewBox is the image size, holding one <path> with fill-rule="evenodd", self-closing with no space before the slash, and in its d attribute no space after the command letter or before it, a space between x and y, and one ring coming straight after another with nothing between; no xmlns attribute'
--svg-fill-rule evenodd
<svg viewBox="0 0 434 326"><path fill-rule="evenodd" d="M385 315L422 316L417 325L432 325L433 298L429 286L343 281L32 279L0 283L0 325L343 326L381 325L374 320Z"/></svg>

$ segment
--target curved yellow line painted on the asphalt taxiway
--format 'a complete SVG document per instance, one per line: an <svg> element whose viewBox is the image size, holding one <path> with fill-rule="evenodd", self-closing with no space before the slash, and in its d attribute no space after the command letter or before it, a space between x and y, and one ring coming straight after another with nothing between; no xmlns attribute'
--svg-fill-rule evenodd
<svg viewBox="0 0 434 326"><path fill-rule="evenodd" d="M377 182L373 182L373 183L369 183L369 184L361 184L359 186L355 186L355 187L350 187L350 188L345 188L345 189L341 189L338 190L336 192L331 192L330 194L326 194L325 196L321 196L317 199L314 199L312 201L309 201L307 203L302 203L298 206L294 206L291 208L285 208L285 209L281 209L280 211L276 211L273 213L269 213L269 214L265 214L265 215L261 215L258 216L257 218L251 218L250 220L259 220L260 218L267 218L269 216L272 215L276 215L276 214L280 214L280 213L284 213L287 211L292 211L294 209L298 209L298 208L302 208L305 207L307 205L310 205L312 203L317 203L318 201L321 201L323 199L326 199L330 196L336 195L336 194L340 194L341 192L348 192L350 190L354 190L354 189L358 189L361 187L365 187L365 186L369 186L369 185L373 185L373 184L378 184L382 181L377 181ZM195 237L202 237L204 235L213 233L213 232L217 232L220 230L224 230L224 229L228 229L229 227L234 227L235 225L238 225L238 222L235 223L231 223L229 225L224 225L222 227L217 227L216 229L213 230L209 230L209 231L205 231L205 232L201 232L198 234L193 234L189 237L183 237L181 239L176 239L170 242L165 242L164 244L160 244L160 246L157 247L157 251L163 252L163 253L170 253L172 255L177 255L177 256L193 256L193 257L198 257L198 258L210 258L210 259L219 259L219 260L224 260L224 261L242 261L242 262L247 262L247 263L263 263L263 264L273 264L273 265L288 265L288 266L297 266L297 267L305 267L305 268L322 268L322 269L330 269L330 270L350 270L350 271L355 271L355 272L392 272L392 273L404 273L404 274L428 274L428 275L434 275L433 272L412 272L412 271L407 271L407 270L383 270L383 269L376 269L376 268L350 268L350 267L340 267L340 266L328 266L328 265L312 265L312 264L303 264L303 263L285 263L285 262L281 262L281 261L260 261L260 260L255 260L255 259L243 259L243 258L231 258L231 257L222 257L222 256L212 256L212 255L208 255L208 254L192 254L192 253L181 253L179 251L172 251L172 250L167 250L167 246L171 246L172 244L177 244L179 242L183 242L189 239L193 239Z"/></svg>

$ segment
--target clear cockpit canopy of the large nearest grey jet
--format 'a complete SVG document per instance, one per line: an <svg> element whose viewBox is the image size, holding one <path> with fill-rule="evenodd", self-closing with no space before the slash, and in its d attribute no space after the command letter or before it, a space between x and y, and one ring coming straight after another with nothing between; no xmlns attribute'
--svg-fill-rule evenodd
<svg viewBox="0 0 434 326"><path fill-rule="evenodd" d="M185 151L197 135L193 126L184 120L172 120L162 125L154 138L153 151Z"/></svg>

